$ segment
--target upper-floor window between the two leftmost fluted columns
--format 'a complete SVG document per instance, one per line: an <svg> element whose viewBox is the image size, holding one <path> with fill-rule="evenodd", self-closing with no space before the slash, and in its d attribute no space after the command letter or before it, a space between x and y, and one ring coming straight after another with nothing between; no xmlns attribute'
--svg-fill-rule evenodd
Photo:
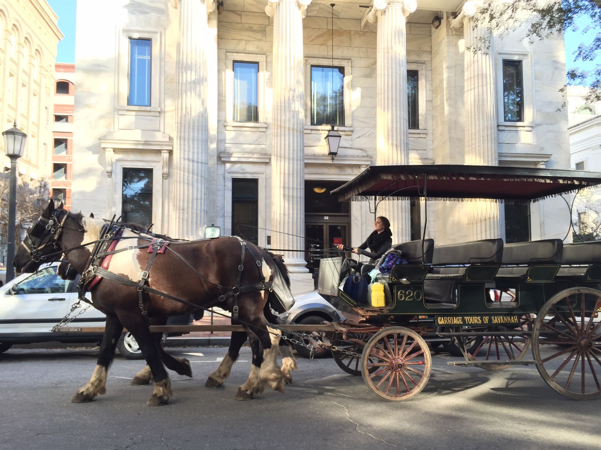
<svg viewBox="0 0 601 450"><path fill-rule="evenodd" d="M234 122L258 122L258 62L234 61Z"/></svg>

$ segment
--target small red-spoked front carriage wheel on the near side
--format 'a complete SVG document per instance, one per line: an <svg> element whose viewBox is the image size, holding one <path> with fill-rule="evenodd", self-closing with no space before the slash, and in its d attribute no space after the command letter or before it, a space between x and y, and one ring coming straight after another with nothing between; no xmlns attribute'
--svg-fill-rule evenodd
<svg viewBox="0 0 601 450"><path fill-rule="evenodd" d="M428 344L415 331L402 326L377 332L367 342L361 358L365 383L390 401L409 400L418 394L426 386L431 370Z"/></svg>

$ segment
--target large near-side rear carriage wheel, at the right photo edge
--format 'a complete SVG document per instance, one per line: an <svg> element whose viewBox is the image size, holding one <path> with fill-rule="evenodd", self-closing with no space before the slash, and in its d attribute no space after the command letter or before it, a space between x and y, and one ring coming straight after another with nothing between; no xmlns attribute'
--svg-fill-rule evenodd
<svg viewBox="0 0 601 450"><path fill-rule="evenodd" d="M601 292L570 287L545 303L532 333L532 355L545 382L566 397L601 395Z"/></svg>

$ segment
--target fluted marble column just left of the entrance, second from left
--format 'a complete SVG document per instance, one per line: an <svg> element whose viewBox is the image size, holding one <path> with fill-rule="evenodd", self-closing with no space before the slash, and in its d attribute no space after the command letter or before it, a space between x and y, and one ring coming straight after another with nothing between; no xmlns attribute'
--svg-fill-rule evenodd
<svg viewBox="0 0 601 450"><path fill-rule="evenodd" d="M305 239L305 89L302 19L311 0L276 0L273 17L272 246L302 250ZM283 234L287 233L287 234ZM288 271L308 272L304 253L284 254Z"/></svg>

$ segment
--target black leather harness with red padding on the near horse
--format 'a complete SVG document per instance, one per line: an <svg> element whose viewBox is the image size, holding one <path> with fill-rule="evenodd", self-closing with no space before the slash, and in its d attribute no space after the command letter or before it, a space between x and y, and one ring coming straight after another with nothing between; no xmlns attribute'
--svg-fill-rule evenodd
<svg viewBox="0 0 601 450"><path fill-rule="evenodd" d="M168 241L167 239L154 237L153 241L150 243L141 245L131 245L129 247L115 250L115 246L117 245L118 241L120 241L121 239L127 239L121 236L123 230L125 229L125 226L120 224L114 224L112 222L105 224L105 226L103 227L102 232L100 233L100 236L103 236L103 238L96 242L96 245L94 245L94 249L90 254L90 257L88 258L88 262L84 269L84 272L82 273L81 278L79 278L79 299L91 303L87 298L85 298L85 292L93 290L103 278L105 278L106 280L115 281L116 283L126 284L127 286L135 287L138 291L138 306L142 311L142 316L144 316L146 319L148 319L148 311L146 310L146 307L144 305L144 292L153 293L155 295L160 295L162 297L174 300L176 302L180 302L182 304L194 308L194 310L208 310L209 308L221 302L224 302L229 298L233 298L231 322L233 324L236 324L239 323L238 296L243 293L271 289L272 287L272 281L265 281L265 277L263 275L262 270L263 263L261 262L261 259L257 257L255 252L252 250L251 247L249 247L246 241L243 241L243 239L240 239L238 236L234 237L236 237L240 241L240 247L242 247L242 251L240 252L240 264L238 265L236 284L234 284L233 287L225 287L221 284L213 283L212 281L209 281L207 280L207 278L203 277L203 275L201 275L196 269L194 269L185 259L183 259L182 256L180 256L177 252L168 247L168 245L171 244L172 241ZM148 234L154 236L153 233ZM136 238L138 237L136 236ZM140 272L139 282L129 280L121 275L115 274L114 272L108 270L110 258L113 254L120 253L121 251L135 250L137 248L148 248L148 253L151 253L145 271ZM183 262L185 262L186 265L188 265L192 269L192 271L194 271L204 281L213 284L213 286L216 286L218 289L230 289L229 292L219 296L216 299L213 299L212 301L209 301L203 306L199 306L148 286L148 275L150 274L150 269L153 265L154 259L156 258L157 254L165 253L165 250L167 249L171 250L172 253L174 253ZM255 260L255 265L257 266L260 282L255 284L248 284L246 286L241 286L242 272L244 270L244 258L247 250Z"/></svg>

